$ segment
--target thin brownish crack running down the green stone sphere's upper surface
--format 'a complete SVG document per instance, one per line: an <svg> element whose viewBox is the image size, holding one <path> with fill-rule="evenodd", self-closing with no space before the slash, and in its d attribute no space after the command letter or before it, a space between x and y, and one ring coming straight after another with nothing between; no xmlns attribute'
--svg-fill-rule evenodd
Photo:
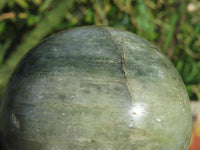
<svg viewBox="0 0 200 150"><path fill-rule="evenodd" d="M122 69L122 71L124 73L124 79L125 79L125 82L126 82L126 86L127 86L128 92L129 92L129 94L131 96L132 101L134 101L134 94L133 94L133 91L131 90L130 81L129 81L129 78L127 76L127 72L126 72L126 69L125 69L125 56L124 56L123 48L121 46L119 47L116 44L115 40L113 39L113 36L112 36L111 32L106 28L104 28L104 29L108 32L108 34L109 34L109 36L111 38L111 41L115 45L116 49L120 51L120 54L121 54L120 55L120 58L121 58L121 69Z"/></svg>

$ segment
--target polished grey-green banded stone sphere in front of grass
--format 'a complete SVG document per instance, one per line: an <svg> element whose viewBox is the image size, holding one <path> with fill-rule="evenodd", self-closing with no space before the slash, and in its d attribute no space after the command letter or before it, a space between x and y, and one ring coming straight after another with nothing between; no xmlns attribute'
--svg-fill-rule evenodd
<svg viewBox="0 0 200 150"><path fill-rule="evenodd" d="M187 150L191 110L169 60L103 26L47 38L20 61L0 102L9 150Z"/></svg>

